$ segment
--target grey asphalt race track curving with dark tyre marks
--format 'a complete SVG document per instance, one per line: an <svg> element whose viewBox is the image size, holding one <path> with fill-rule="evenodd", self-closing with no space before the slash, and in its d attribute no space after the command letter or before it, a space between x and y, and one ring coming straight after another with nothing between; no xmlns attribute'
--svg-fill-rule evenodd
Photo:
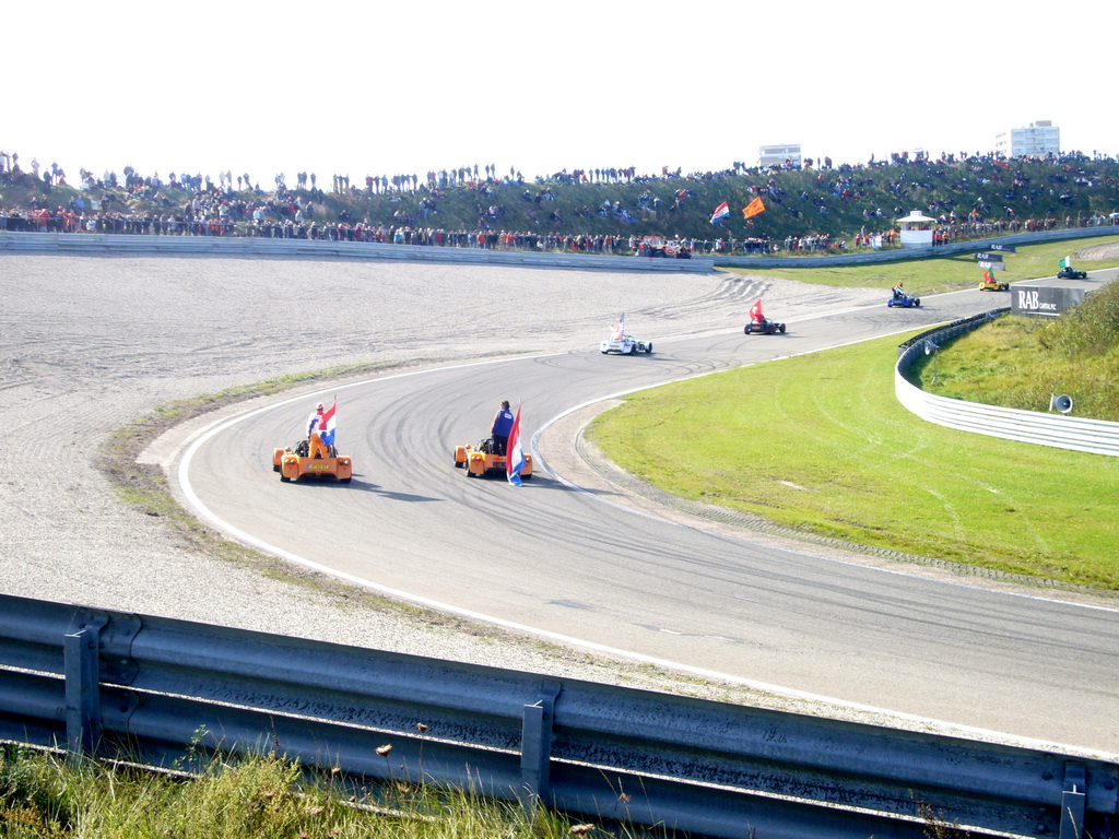
<svg viewBox="0 0 1119 839"><path fill-rule="evenodd" d="M530 433L620 393L999 304L961 292L920 310L787 318L779 337L657 341L651 356L584 347L378 377L320 394L345 405L350 486L274 479L271 446L291 436L305 398L215 428L180 477L242 538L394 596L703 675L1113 751L1113 610L634 515L558 470L515 490L452 465L499 398L524 403Z"/></svg>

